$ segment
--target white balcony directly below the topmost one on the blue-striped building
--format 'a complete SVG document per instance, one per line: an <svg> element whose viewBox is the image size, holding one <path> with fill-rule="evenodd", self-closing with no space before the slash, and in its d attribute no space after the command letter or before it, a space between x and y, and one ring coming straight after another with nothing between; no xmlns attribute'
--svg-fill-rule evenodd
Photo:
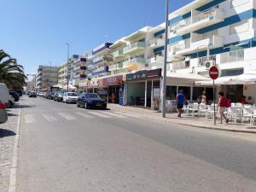
<svg viewBox="0 0 256 192"><path fill-rule="evenodd" d="M179 44L172 49L172 55L187 55L201 50L214 49L224 46L224 39L218 35L194 41L190 44Z"/></svg>

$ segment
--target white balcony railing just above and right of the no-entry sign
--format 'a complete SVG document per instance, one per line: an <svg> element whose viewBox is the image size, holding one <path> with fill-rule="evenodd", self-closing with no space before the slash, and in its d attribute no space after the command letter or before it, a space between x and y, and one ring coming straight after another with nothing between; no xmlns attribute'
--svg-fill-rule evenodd
<svg viewBox="0 0 256 192"><path fill-rule="evenodd" d="M220 55L220 63L244 61L244 49L223 53Z"/></svg>

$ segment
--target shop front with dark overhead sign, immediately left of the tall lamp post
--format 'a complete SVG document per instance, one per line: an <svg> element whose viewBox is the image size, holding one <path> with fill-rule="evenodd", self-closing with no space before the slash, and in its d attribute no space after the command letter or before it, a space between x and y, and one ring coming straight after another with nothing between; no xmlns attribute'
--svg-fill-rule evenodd
<svg viewBox="0 0 256 192"><path fill-rule="evenodd" d="M124 104L158 109L161 69L143 70L125 75Z"/></svg>

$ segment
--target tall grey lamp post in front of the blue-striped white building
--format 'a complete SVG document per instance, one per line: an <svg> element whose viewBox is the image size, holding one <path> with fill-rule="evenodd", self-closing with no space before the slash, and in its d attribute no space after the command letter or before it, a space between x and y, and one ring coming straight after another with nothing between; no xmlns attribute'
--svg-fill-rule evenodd
<svg viewBox="0 0 256 192"><path fill-rule="evenodd" d="M169 0L166 0L166 44L165 44L165 61L162 83L162 117L166 118L166 67L167 67L167 46L168 46L168 26L169 26Z"/></svg>

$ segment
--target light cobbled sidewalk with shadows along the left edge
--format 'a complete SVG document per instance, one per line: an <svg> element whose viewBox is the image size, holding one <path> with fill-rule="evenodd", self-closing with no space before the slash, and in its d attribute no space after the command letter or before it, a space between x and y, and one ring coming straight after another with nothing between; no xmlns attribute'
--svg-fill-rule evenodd
<svg viewBox="0 0 256 192"><path fill-rule="evenodd" d="M14 156L15 135L19 117L19 105L8 108L8 121L0 125L0 191L9 190L9 177Z"/></svg>

